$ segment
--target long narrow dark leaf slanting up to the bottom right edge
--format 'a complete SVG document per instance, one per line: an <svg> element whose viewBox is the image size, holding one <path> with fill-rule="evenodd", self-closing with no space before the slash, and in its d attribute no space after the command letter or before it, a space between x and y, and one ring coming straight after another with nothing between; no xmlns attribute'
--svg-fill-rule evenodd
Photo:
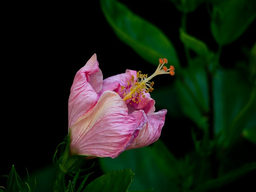
<svg viewBox="0 0 256 192"><path fill-rule="evenodd" d="M233 170L228 174L224 174L217 179L211 179L204 182L203 184L200 184L194 190L192 190L192 192L207 192L208 190L219 188L221 186L224 186L225 184L233 182L234 180L255 169L256 162L245 164L240 168L237 168L236 170Z"/></svg>

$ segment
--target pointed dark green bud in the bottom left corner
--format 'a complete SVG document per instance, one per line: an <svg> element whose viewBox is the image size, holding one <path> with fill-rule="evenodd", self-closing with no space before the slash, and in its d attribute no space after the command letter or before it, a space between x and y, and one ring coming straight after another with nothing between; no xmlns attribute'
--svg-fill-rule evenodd
<svg viewBox="0 0 256 192"><path fill-rule="evenodd" d="M8 180L7 180L7 189L8 192L13 192L13 191L22 191L22 180L20 179L20 177L18 176L14 165L12 165L10 174L8 176Z"/></svg>

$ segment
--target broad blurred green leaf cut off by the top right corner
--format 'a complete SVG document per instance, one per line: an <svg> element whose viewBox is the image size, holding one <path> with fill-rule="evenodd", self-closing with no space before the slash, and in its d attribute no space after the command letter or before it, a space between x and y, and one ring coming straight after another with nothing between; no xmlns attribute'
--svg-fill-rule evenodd
<svg viewBox="0 0 256 192"><path fill-rule="evenodd" d="M255 0L213 2L210 27L219 45L226 45L236 40L256 18Z"/></svg>

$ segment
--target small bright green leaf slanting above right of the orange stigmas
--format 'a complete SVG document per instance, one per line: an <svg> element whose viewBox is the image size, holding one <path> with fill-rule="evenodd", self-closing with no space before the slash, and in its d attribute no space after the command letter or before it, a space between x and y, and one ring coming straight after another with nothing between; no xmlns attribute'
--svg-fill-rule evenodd
<svg viewBox="0 0 256 192"><path fill-rule="evenodd" d="M204 58L210 56L210 51L204 42L187 34L182 29L180 29L180 40L186 47L196 52L199 56L203 56Z"/></svg>

